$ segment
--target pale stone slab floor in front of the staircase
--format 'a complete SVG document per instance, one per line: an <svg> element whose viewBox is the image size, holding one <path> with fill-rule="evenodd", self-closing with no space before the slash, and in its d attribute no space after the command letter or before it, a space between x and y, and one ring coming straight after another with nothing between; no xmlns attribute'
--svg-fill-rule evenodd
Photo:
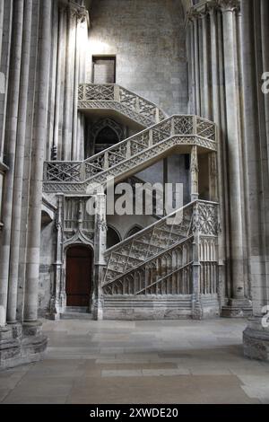
<svg viewBox="0 0 269 422"><path fill-rule="evenodd" d="M269 403L243 320L44 321L44 361L0 373L1 403Z"/></svg>

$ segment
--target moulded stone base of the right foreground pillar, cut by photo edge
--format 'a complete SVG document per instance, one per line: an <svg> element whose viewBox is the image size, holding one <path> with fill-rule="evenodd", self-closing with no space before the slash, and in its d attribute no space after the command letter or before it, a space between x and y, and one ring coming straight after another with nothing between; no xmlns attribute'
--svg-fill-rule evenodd
<svg viewBox="0 0 269 422"><path fill-rule="evenodd" d="M269 327L263 327L263 315L249 319L243 332L244 355L250 359L269 362Z"/></svg>

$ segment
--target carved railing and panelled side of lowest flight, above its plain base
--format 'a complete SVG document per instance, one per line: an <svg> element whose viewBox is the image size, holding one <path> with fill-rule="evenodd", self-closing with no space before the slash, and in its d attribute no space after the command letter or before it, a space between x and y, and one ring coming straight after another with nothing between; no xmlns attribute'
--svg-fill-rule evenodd
<svg viewBox="0 0 269 422"><path fill-rule="evenodd" d="M169 242L165 236L163 248L152 249L152 224L106 252L102 290L104 295L215 295L217 293L219 230L218 204L197 200L182 208L183 229L178 224L178 239ZM191 212L189 212L191 211ZM184 217L185 215L185 217ZM183 230L182 230L183 229ZM170 233L174 233L175 226ZM144 242L139 242L141 239ZM177 239L177 240L176 240ZM137 246L136 246L137 245ZM165 247L166 245L166 247ZM155 246L153 242L153 246ZM135 255L140 247L138 259ZM198 251L198 255L196 255ZM131 259L130 259L131 257ZM136 260L135 260L136 259ZM198 259L198 261L197 261ZM195 261L195 262L194 262ZM194 286L193 266L199 265L198 286Z"/></svg>

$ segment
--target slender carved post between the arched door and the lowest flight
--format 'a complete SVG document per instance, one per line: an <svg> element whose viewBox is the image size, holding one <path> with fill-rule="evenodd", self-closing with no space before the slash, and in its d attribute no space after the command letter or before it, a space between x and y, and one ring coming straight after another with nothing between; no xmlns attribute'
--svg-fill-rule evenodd
<svg viewBox="0 0 269 422"><path fill-rule="evenodd" d="M101 281L106 265L104 253L107 249L107 209L106 195L96 195L95 207L95 236L94 236L94 294L92 313L95 320L103 319L103 299Z"/></svg>

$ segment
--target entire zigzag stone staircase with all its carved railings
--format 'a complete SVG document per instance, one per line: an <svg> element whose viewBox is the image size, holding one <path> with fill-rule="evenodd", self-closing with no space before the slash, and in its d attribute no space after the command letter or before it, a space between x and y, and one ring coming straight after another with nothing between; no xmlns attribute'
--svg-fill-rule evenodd
<svg viewBox="0 0 269 422"><path fill-rule="evenodd" d="M91 196L92 187L135 179L171 153L193 154L197 161L198 154L217 150L213 122L193 115L167 118L152 102L115 84L80 85L78 109L112 110L145 128L82 162L46 162L43 189L50 196ZM218 313L218 226L218 204L194 200L105 251L95 299L103 303L104 317Z"/></svg>

